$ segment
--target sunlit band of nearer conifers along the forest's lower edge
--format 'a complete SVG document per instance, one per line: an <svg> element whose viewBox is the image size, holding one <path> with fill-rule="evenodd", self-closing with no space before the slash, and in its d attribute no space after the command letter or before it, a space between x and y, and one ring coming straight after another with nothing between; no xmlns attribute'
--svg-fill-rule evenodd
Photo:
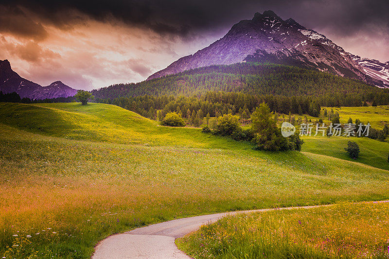
<svg viewBox="0 0 389 259"><path fill-rule="evenodd" d="M272 112L309 114L318 117L320 103L310 96L251 95L242 92L210 91L199 96L136 96L120 97L113 100L96 98L97 103L114 104L134 111L150 119L164 118L169 112L176 112L183 118L196 116L219 117L224 114L239 114L247 119L259 104L266 103ZM159 110L159 112L157 112Z"/></svg>

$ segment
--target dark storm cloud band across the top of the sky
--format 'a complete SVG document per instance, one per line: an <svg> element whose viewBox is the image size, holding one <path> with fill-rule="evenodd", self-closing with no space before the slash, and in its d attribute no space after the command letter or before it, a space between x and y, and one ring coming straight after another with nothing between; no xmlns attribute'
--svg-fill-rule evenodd
<svg viewBox="0 0 389 259"><path fill-rule="evenodd" d="M352 34L370 23L388 29L389 24L387 0L3 0L1 5L3 10L17 8L19 13L14 12L15 24L1 22L0 30L8 26L7 30L14 33L40 37L44 29L39 22L67 29L88 18L121 21L160 34L184 37L212 28L230 28L239 20L267 9L284 19L293 17L307 27L331 27L337 34ZM28 18L27 12L40 21L22 22Z"/></svg>

